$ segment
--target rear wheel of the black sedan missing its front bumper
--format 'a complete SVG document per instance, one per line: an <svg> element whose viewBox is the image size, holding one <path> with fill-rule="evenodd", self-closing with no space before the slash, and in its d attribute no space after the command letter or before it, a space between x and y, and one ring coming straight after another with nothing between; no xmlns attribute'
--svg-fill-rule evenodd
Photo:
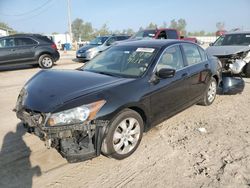
<svg viewBox="0 0 250 188"><path fill-rule="evenodd" d="M216 90L217 90L217 81L215 78L212 77L203 95L202 101L199 102L199 104L203 106L211 105L216 98Z"/></svg>

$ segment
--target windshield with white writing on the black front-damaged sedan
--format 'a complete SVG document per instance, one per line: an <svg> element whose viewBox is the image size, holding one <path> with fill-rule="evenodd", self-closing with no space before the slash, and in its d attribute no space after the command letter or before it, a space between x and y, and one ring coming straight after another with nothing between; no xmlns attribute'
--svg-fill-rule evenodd
<svg viewBox="0 0 250 188"><path fill-rule="evenodd" d="M139 77L148 69L155 48L112 47L87 63L83 70L118 77Z"/></svg>

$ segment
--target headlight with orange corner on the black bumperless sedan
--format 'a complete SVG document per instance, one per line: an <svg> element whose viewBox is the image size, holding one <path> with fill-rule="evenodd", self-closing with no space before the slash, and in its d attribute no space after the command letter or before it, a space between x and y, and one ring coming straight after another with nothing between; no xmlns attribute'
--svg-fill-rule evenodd
<svg viewBox="0 0 250 188"><path fill-rule="evenodd" d="M76 108L51 114L48 118L47 125L69 125L93 120L97 112L105 103L105 100L100 100L87 105L82 105Z"/></svg>

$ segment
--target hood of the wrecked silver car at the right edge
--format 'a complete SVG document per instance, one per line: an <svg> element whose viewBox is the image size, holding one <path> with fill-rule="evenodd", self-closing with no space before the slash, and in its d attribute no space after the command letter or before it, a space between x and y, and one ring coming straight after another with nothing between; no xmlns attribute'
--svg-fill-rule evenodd
<svg viewBox="0 0 250 188"><path fill-rule="evenodd" d="M213 56L227 56L249 50L249 46L210 46L206 49L206 52Z"/></svg>

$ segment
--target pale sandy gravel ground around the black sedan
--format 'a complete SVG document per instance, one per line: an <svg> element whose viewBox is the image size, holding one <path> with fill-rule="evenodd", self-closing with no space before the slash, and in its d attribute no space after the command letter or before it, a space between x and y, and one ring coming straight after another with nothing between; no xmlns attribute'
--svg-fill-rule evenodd
<svg viewBox="0 0 250 188"><path fill-rule="evenodd" d="M79 65L65 58L54 68ZM250 79L242 94L217 96L209 107L193 106L156 126L125 160L68 164L25 133L12 112L39 70L0 72L0 187L250 187Z"/></svg>

